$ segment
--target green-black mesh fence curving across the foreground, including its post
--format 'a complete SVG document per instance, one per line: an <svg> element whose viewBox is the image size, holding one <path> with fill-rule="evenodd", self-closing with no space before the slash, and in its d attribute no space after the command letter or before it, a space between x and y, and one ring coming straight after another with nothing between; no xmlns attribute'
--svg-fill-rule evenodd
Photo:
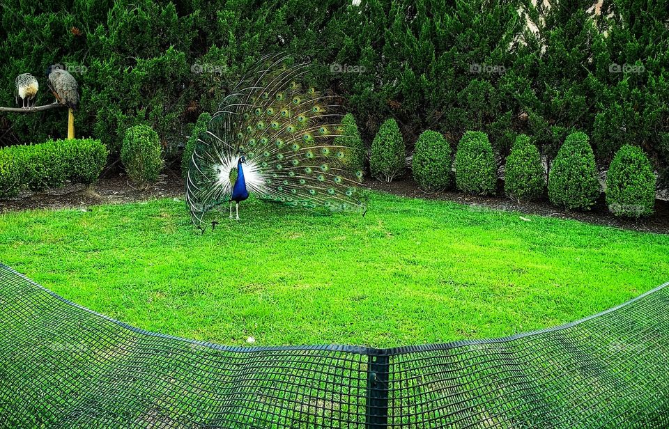
<svg viewBox="0 0 669 429"><path fill-rule="evenodd" d="M665 286L509 338L235 348L130 327L0 265L0 427L666 428Z"/></svg>

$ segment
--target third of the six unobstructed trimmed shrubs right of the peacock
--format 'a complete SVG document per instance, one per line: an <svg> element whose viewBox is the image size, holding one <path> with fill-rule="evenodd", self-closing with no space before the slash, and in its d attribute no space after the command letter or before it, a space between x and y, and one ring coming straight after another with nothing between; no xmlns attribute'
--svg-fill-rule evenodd
<svg viewBox="0 0 669 429"><path fill-rule="evenodd" d="M495 155L484 132L468 131L460 139L455 154L455 185L468 194L495 193Z"/></svg>

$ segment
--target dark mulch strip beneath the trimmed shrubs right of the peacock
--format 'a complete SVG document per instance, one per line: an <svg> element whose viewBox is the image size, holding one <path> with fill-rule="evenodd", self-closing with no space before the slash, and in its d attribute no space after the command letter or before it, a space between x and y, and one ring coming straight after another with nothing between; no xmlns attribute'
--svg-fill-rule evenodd
<svg viewBox="0 0 669 429"><path fill-rule="evenodd" d="M663 200L655 201L655 212L652 216L634 220L613 216L606 207L606 201L603 194L592 210L587 212L577 212L574 210L563 210L551 205L546 196L539 201L519 203L512 201L510 198L507 198L507 196L474 196L453 191L424 192L418 187L413 178L408 175L397 178L390 183L368 179L365 181L364 185L369 189L409 198L454 201L456 203L475 205L495 210L538 214L541 216L558 217L560 219L574 219L589 224L615 226L616 228L633 231L663 234L669 233L669 201Z"/></svg>

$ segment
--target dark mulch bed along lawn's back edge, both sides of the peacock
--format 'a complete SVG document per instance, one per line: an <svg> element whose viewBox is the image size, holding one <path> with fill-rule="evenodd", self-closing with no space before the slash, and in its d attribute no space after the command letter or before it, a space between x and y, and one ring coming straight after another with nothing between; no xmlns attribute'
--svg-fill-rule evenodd
<svg viewBox="0 0 669 429"><path fill-rule="evenodd" d="M476 205L495 210L517 211L524 214L576 219L590 224L615 226L633 231L669 233L669 201L657 200L655 213L640 220L622 219L610 214L604 198L588 212L562 210L548 203L547 198L536 202L518 203L505 196L472 196L459 192L431 192L419 189L410 175L397 178L391 183L367 180L364 184L369 189L388 192L410 198L446 200L456 203ZM148 189L141 190L132 186L128 177L118 171L107 173L91 189L82 185L66 185L47 192L23 192L16 198L0 199L0 212L12 212L32 209L82 208L89 205L130 203L153 198L183 197L183 179L178 170L167 169L158 182Z"/></svg>

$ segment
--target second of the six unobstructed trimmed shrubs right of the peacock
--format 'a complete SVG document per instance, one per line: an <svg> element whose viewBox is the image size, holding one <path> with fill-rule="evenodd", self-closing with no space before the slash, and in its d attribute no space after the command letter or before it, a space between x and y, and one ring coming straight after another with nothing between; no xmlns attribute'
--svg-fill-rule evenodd
<svg viewBox="0 0 669 429"><path fill-rule="evenodd" d="M451 146L436 131L422 132L413 153L413 178L429 191L446 189L451 185Z"/></svg>

